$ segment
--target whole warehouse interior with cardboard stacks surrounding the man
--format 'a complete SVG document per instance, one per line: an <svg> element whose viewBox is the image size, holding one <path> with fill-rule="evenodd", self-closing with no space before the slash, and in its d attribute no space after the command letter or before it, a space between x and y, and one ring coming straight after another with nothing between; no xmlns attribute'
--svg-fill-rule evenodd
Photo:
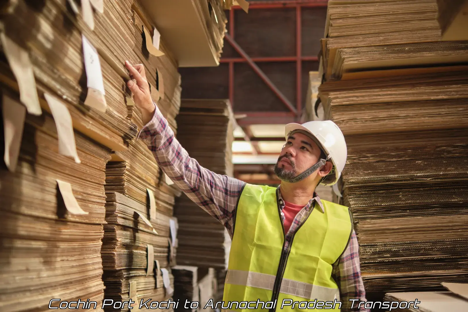
<svg viewBox="0 0 468 312"><path fill-rule="evenodd" d="M351 209L367 300L468 311L468 1L0 6L2 312L220 311L231 239L137 138L126 60L190 156L248 183L279 184L286 123L333 120L348 159L316 192Z"/></svg>

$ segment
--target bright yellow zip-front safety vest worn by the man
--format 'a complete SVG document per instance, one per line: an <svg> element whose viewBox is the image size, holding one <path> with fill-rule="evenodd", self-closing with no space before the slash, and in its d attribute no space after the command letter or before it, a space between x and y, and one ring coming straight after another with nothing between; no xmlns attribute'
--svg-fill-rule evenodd
<svg viewBox="0 0 468 312"><path fill-rule="evenodd" d="M340 311L331 272L351 238L351 214L342 205L322 204L325 213L312 209L285 248L277 189L244 187L236 210L223 311L245 312L246 305L263 311L304 311L314 310L318 302L324 302L319 309L331 308L327 302L333 302L335 309L328 311Z"/></svg>

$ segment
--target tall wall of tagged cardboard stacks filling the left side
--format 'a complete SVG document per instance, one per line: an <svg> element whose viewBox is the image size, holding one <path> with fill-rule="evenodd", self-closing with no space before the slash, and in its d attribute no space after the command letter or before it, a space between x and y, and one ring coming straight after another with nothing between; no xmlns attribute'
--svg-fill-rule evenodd
<svg viewBox="0 0 468 312"><path fill-rule="evenodd" d="M143 123L124 61L145 66L174 131L177 61L138 2L92 5L2 6L2 311L172 296L180 191L135 139Z"/></svg>

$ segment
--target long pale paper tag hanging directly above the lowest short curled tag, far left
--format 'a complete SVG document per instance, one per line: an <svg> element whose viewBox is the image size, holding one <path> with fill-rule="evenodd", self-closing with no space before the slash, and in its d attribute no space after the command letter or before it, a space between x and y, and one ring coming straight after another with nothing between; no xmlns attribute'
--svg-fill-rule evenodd
<svg viewBox="0 0 468 312"><path fill-rule="evenodd" d="M44 98L51 108L52 116L54 117L57 127L59 153L72 157L77 164L81 163L78 153L76 152L75 134L73 133L73 123L70 112L66 108L66 105L55 96L44 93Z"/></svg>

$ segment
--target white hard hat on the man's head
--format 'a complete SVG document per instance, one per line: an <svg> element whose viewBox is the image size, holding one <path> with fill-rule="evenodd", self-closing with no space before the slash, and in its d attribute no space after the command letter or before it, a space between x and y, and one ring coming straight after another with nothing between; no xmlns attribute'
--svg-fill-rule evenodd
<svg viewBox="0 0 468 312"><path fill-rule="evenodd" d="M285 127L286 140L297 131L305 131L316 139L316 143L325 153L327 160L333 164L330 173L320 182L322 185L333 185L341 176L348 151L343 132L331 120L309 121L307 123L288 123ZM318 141L318 142L317 142Z"/></svg>

